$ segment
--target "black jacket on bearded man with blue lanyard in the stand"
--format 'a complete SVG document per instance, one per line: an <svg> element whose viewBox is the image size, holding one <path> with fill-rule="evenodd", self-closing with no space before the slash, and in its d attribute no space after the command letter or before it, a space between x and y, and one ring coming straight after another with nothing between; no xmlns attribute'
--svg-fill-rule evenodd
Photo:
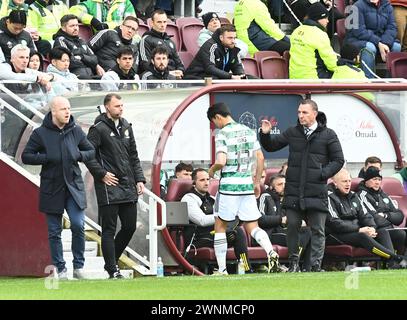
<svg viewBox="0 0 407 320"><path fill-rule="evenodd" d="M244 74L239 51L240 49L237 47L225 49L219 39L218 29L212 35L212 39L206 41L199 49L191 65L185 71L184 78L204 79L205 77L212 77L214 79L231 79L232 74Z"/></svg>

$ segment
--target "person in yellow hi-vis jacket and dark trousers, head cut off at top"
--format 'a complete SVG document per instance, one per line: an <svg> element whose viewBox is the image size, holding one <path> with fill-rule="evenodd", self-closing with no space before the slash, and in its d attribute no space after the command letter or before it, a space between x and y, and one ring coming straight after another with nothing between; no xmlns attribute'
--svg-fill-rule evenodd
<svg viewBox="0 0 407 320"><path fill-rule="evenodd" d="M272 50L281 55L290 49L290 40L271 19L267 6L261 0L240 0L235 5L237 37L249 47L250 55Z"/></svg>

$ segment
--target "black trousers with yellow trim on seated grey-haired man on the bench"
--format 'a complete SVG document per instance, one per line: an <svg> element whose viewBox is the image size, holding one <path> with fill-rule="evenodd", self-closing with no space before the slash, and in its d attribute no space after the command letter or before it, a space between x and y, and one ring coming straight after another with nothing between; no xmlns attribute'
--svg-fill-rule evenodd
<svg viewBox="0 0 407 320"><path fill-rule="evenodd" d="M378 239L376 240L376 238ZM362 232L336 233L330 234L326 237L326 244L347 244L353 247L364 248L367 251L385 259L394 259L397 257L397 255L394 253L390 234L387 230L382 229L378 231L376 238L369 237L366 233ZM381 243L383 243L383 245ZM385 253L385 255L388 255L389 257L386 257L381 253Z"/></svg>

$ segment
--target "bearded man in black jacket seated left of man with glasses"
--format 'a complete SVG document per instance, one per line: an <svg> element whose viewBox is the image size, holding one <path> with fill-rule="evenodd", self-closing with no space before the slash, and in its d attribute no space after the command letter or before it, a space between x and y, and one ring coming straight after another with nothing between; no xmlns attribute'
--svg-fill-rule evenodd
<svg viewBox="0 0 407 320"><path fill-rule="evenodd" d="M54 48L63 47L71 52L69 71L79 79L100 79L105 73L98 58L86 42L79 38L78 18L67 14L61 18L61 29L54 34Z"/></svg>

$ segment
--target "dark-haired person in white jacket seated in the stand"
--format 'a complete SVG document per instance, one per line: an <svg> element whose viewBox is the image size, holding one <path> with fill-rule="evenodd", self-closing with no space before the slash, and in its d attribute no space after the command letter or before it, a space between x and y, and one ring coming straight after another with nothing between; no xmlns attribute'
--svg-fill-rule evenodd
<svg viewBox="0 0 407 320"><path fill-rule="evenodd" d="M69 92L78 91L78 77L69 71L71 53L67 48L53 48L49 53L51 64L47 72L55 76L52 89L56 95L64 95Z"/></svg>

